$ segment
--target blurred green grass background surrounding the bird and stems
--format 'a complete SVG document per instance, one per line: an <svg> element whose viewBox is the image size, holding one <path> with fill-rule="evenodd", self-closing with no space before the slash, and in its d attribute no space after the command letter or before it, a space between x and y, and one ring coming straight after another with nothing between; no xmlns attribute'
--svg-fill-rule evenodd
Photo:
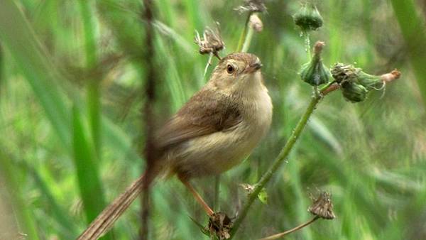
<svg viewBox="0 0 426 240"><path fill-rule="evenodd" d="M231 10L240 3L155 1L158 125L204 83L207 57L198 55L194 31L219 21L226 43L221 54L231 53L245 21ZM249 52L264 65L273 126L251 158L222 177L220 207L231 216L246 197L239 183L256 182L267 169L310 96L297 76L307 61L291 18L300 4L266 6L263 32L253 36ZM87 225L82 199L104 195L109 202L140 174L141 7L136 0L0 2L0 163L9 190L15 190L18 231L34 239L72 239ZM425 18L420 3L328 0L318 8L324 27L311 34L311 42L326 41L327 65L356 62L373 74L398 67L403 78L389 84L383 98L373 93L361 104L345 102L339 92L327 96L297 151L268 185L268 204L253 204L236 239L256 239L306 220L309 195L317 188L332 192L337 219L288 239L425 239L426 114L420 96L426 92L426 60L422 43L411 44L425 33L416 30L424 26L415 24ZM82 194L79 180L83 188L97 181L103 193ZM214 178L194 182L212 204ZM204 237L188 215L202 223L207 218L174 178L155 185L153 202L153 239ZM89 210L92 217L102 200L97 204ZM116 239L138 236L138 209L132 206L116 224Z"/></svg>

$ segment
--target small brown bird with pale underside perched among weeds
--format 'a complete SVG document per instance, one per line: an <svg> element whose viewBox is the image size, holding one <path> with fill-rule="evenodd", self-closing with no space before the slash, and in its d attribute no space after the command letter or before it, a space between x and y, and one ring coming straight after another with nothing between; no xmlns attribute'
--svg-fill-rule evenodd
<svg viewBox="0 0 426 240"><path fill-rule="evenodd" d="M219 61L209 82L160 129L153 172L178 175L207 214L212 209L190 178L218 175L241 163L271 125L272 102L263 85L261 62L250 53ZM97 239L111 227L153 177L138 178L94 219L78 239ZM147 181L147 182L146 182Z"/></svg>

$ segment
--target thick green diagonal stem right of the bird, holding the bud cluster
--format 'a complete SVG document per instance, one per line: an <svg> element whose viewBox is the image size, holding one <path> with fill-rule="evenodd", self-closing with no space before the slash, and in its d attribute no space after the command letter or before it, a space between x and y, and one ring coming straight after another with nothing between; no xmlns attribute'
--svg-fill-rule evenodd
<svg viewBox="0 0 426 240"><path fill-rule="evenodd" d="M300 134L302 133L303 129L305 129L307 120L314 112L315 108L317 107L317 104L320 102L320 100L324 97L325 94L328 94L329 92L332 92L337 89L331 89L333 87L332 84L333 82L329 82L329 84L322 87L322 89L320 89L320 94L313 94L310 104L307 106L307 109L305 111L305 114L302 115L302 118L297 123L297 126L295 127L293 133L291 133L283 149L280 151L280 154L278 154L278 157L275 158L273 164L268 169L268 171L262 175L261 180L256 183L253 192L249 194L247 201L244 203L241 212L239 213L239 216L236 217L234 221L234 227L231 230L231 239L235 236L236 231L239 229L241 222L243 222L244 218L249 212L251 204L253 204L254 200L256 200L256 198L258 197L259 192L261 192L263 187L265 187L266 183L271 180L272 175L278 170L280 165L283 164L285 158L288 157L288 154L293 149L293 146L295 145L297 139L300 137Z"/></svg>

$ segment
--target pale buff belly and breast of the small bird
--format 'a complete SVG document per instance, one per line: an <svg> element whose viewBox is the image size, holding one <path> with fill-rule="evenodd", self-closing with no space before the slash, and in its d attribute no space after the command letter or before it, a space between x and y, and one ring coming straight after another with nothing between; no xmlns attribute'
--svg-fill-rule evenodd
<svg viewBox="0 0 426 240"><path fill-rule="evenodd" d="M200 136L177 146L169 156L171 169L181 177L217 175L248 157L271 125L272 105L251 109L250 121L242 121L233 129ZM253 118L253 115L256 116Z"/></svg>

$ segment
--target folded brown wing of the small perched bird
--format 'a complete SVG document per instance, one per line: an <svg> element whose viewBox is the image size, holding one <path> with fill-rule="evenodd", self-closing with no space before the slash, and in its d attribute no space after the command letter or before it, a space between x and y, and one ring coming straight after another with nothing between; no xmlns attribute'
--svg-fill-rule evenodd
<svg viewBox="0 0 426 240"><path fill-rule="evenodd" d="M201 90L160 129L157 146L165 149L190 138L226 131L241 122L241 114L231 97Z"/></svg>

